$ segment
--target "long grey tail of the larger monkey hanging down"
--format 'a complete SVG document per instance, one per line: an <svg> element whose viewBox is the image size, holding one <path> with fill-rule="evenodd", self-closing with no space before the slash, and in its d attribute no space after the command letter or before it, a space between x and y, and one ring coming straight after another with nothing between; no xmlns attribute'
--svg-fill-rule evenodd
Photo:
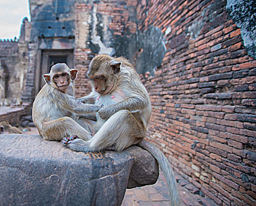
<svg viewBox="0 0 256 206"><path fill-rule="evenodd" d="M170 194L170 205L171 206L179 206L180 205L180 198L179 198L179 191L178 186L175 180L175 175L170 167L170 162L167 160L165 155L160 151L159 148L155 147L154 145L150 144L149 142L142 140L137 144L139 147L146 149L149 151L153 157L156 158L158 164L160 165L163 174L165 175L165 179L168 184L169 194Z"/></svg>

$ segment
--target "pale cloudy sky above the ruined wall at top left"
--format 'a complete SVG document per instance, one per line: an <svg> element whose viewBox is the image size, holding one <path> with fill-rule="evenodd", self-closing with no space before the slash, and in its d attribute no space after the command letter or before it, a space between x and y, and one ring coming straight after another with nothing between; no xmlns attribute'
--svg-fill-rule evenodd
<svg viewBox="0 0 256 206"><path fill-rule="evenodd" d="M0 0L0 39L19 38L22 19L28 18L28 0Z"/></svg>

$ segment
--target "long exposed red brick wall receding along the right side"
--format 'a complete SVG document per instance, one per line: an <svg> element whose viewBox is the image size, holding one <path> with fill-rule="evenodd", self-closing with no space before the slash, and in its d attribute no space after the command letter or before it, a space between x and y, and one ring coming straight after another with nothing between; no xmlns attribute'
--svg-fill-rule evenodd
<svg viewBox="0 0 256 206"><path fill-rule="evenodd" d="M139 29L165 34L147 138L219 205L255 205L256 61L226 1L139 1Z"/></svg>

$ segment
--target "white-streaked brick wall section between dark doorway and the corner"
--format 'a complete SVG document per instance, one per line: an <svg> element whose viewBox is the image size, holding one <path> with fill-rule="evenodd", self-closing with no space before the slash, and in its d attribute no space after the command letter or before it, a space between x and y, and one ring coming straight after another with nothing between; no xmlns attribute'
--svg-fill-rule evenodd
<svg viewBox="0 0 256 206"><path fill-rule="evenodd" d="M136 4L137 1L134 0L93 1L86 4L77 2L74 65L79 73L75 82L76 97L82 97L91 91L90 80L85 77L88 65L95 55L124 55L120 52L120 36L122 38L124 33L136 32L135 20L130 19L135 14ZM96 37L100 38L100 42L96 42ZM101 43L104 44L103 47Z"/></svg>

